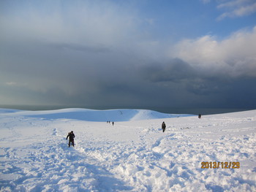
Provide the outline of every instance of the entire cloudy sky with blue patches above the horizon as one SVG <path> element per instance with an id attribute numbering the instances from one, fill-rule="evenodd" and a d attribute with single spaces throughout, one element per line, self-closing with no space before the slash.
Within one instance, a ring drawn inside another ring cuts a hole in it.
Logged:
<path id="1" fill-rule="evenodd" d="M 0 104 L 256 108 L 255 0 L 0 1 Z"/>

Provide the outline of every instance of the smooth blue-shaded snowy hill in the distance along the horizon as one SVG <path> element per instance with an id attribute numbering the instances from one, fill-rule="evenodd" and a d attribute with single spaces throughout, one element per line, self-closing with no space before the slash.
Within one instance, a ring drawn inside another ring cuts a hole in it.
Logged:
<path id="1" fill-rule="evenodd" d="M 64 109 L 45 111 L 22 111 L 0 109 L 0 113 L 11 113 L 11 115 L 23 115 L 34 118 L 45 119 L 75 119 L 97 122 L 146 120 L 158 118 L 177 118 L 191 115 L 176 115 L 156 112 L 152 110 L 87 110 L 87 109 Z"/>

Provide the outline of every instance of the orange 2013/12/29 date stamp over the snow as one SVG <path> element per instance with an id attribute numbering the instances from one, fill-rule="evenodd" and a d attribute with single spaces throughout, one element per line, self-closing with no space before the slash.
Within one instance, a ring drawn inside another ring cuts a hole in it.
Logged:
<path id="1" fill-rule="evenodd" d="M 206 162 L 201 163 L 201 169 L 239 169 L 240 162 Z"/>

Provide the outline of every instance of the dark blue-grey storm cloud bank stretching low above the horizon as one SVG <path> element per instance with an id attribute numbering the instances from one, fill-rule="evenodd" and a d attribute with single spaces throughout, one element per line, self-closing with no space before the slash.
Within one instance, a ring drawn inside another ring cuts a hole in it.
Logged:
<path id="1" fill-rule="evenodd" d="M 56 45 L 13 45 L 20 54 L 1 58 L 6 61 L 1 73 L 8 72 L 0 77 L 5 82 L 1 95 L 10 101 L 78 106 L 254 106 L 254 77 L 203 70 L 180 58 L 154 63 L 143 58 L 140 64 L 138 55 L 130 58 L 118 50 Z"/>

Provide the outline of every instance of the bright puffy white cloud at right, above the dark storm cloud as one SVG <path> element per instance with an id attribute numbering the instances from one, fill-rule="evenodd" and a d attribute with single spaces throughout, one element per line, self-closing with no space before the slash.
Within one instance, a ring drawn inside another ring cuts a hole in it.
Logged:
<path id="1" fill-rule="evenodd" d="M 171 57 L 210 74 L 256 77 L 256 27 L 238 31 L 222 41 L 211 36 L 185 39 L 170 52 Z"/>

